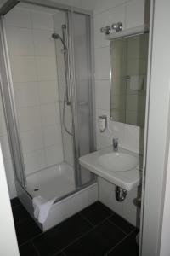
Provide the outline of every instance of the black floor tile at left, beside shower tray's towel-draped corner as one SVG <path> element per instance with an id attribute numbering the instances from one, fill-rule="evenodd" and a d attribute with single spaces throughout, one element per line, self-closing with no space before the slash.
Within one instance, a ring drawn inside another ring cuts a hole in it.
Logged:
<path id="1" fill-rule="evenodd" d="M 34 236 L 41 234 L 42 231 L 38 228 L 33 219 L 27 218 L 25 221 L 15 225 L 16 236 L 19 244 L 22 244 Z"/>

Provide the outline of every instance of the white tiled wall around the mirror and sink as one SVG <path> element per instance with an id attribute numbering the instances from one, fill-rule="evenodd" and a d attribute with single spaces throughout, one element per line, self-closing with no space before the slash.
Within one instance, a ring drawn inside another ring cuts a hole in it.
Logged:
<path id="1" fill-rule="evenodd" d="M 122 21 L 123 29 L 143 25 L 144 0 L 106 1 L 106 3 L 103 8 L 100 6 L 100 9 L 94 12 L 97 148 L 111 145 L 112 138 L 118 137 L 120 146 L 138 153 L 140 142 L 143 140 L 139 126 L 109 121 L 111 132 L 99 132 L 98 116 L 101 114 L 111 116 L 111 43 L 105 40 L 104 34 L 99 29 L 118 21 Z M 115 186 L 99 177 L 99 200 L 133 224 L 139 221 L 138 209 L 133 205 L 133 199 L 137 194 L 137 189 L 133 189 L 128 192 L 127 199 L 119 203 L 115 199 Z"/>

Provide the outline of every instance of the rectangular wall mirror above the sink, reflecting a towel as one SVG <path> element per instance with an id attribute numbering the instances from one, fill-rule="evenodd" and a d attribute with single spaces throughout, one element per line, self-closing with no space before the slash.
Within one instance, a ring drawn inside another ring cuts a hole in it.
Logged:
<path id="1" fill-rule="evenodd" d="M 144 127 L 148 33 L 111 41 L 111 119 Z"/>

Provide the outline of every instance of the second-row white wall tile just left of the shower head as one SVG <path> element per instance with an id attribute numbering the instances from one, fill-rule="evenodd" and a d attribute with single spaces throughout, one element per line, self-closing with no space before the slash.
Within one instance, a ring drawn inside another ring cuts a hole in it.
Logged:
<path id="1" fill-rule="evenodd" d="M 54 56 L 55 41 L 52 38 L 53 31 L 33 30 L 35 55 Z"/>

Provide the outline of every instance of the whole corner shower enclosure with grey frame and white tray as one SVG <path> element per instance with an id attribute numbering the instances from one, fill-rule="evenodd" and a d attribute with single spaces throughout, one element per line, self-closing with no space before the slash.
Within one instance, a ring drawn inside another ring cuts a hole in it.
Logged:
<path id="1" fill-rule="evenodd" d="M 32 216 L 33 198 L 54 199 L 39 224 L 48 230 L 69 217 L 59 207 L 65 200 L 75 201 L 71 215 L 97 199 L 95 177 L 78 161 L 95 144 L 92 15 L 38 0 L 8 1 L 0 15 L 1 92 L 16 189 Z"/>

